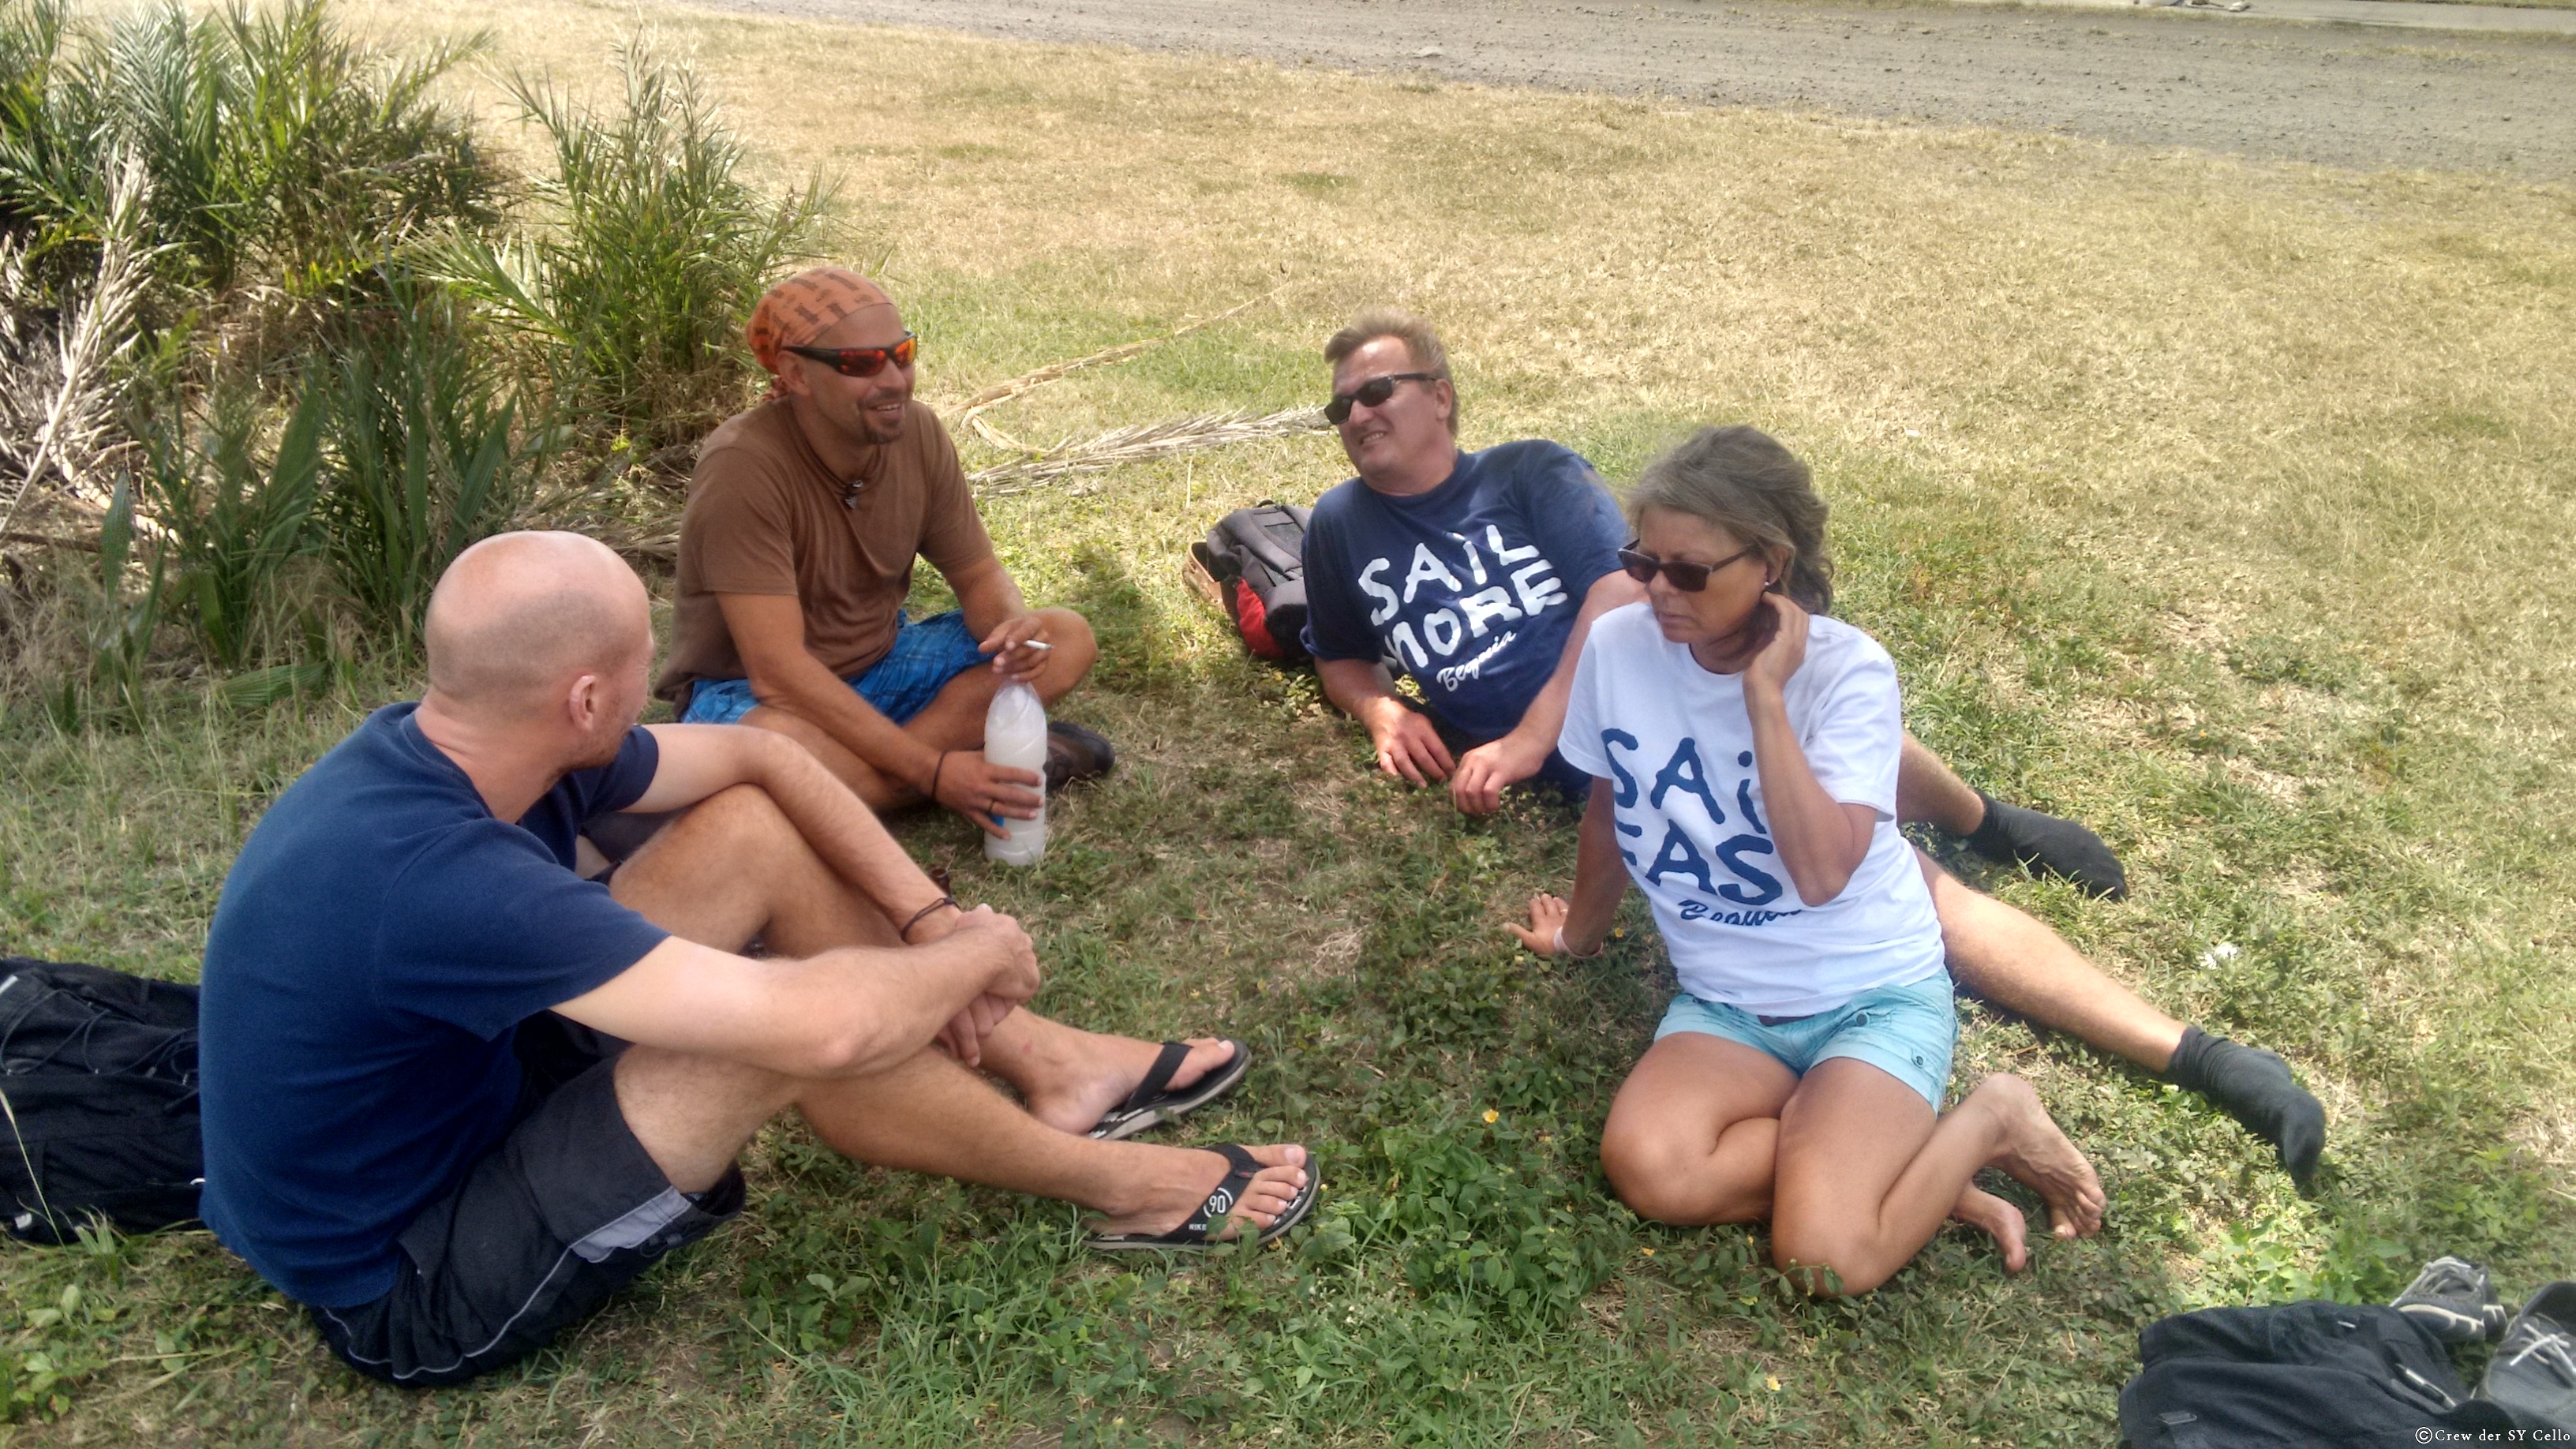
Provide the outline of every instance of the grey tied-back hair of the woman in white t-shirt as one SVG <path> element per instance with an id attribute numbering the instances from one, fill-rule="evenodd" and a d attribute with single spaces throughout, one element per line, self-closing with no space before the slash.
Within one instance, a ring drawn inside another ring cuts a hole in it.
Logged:
<path id="1" fill-rule="evenodd" d="M 1798 454 L 1762 428 L 1700 428 L 1695 438 L 1646 464 L 1628 490 L 1628 529 L 1649 508 L 1716 523 L 1788 554 L 1780 590 L 1808 614 L 1834 611 L 1834 557 L 1824 549 L 1824 500 Z"/>

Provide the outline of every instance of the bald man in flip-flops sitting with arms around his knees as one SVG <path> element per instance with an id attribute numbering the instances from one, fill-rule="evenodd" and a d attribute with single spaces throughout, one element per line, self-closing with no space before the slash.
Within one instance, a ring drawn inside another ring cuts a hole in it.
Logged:
<path id="1" fill-rule="evenodd" d="M 1314 1201 L 1298 1145 L 1100 1140 L 1149 1078 L 1231 1085 L 1239 1044 L 1025 1011 L 1028 933 L 948 900 L 793 740 L 639 730 L 649 601 L 605 547 L 466 549 L 425 642 L 422 701 L 268 807 L 206 938 L 206 1225 L 358 1372 L 536 1351 L 737 1214 L 734 1155 L 788 1109 L 855 1160 L 1092 1207 L 1100 1248 Z M 574 874 L 592 822 L 683 807 Z"/>

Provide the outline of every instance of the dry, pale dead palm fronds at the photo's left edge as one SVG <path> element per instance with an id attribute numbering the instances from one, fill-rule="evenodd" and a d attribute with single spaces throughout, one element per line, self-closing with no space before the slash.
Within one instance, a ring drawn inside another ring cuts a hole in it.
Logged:
<path id="1" fill-rule="evenodd" d="M 95 474 L 121 446 L 113 364 L 134 345 L 149 263 L 147 191 L 142 157 L 129 152 L 108 188 L 98 278 L 64 304 L 52 330 L 36 322 L 41 304 L 26 248 L 15 237 L 0 242 L 0 534 L 46 487 L 106 495 Z"/>

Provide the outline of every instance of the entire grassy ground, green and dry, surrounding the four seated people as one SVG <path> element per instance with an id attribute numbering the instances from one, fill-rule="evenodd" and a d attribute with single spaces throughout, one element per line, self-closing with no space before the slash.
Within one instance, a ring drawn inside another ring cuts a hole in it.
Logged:
<path id="1" fill-rule="evenodd" d="M 443 23 L 595 57 L 621 15 Z M 1461 820 L 1373 779 L 1311 676 L 1242 657 L 1180 585 L 1221 511 L 1342 477 L 1329 436 L 1298 436 L 992 500 L 1030 598 L 1100 629 L 1066 714 L 1123 763 L 1066 797 L 1036 871 L 987 866 L 963 822 L 896 825 L 1030 923 L 1043 1011 L 1252 1042 L 1247 1085 L 1162 1137 L 1306 1140 L 1309 1227 L 1103 1261 L 1064 1207 L 778 1127 L 744 1222 L 523 1369 L 428 1395 L 337 1369 L 206 1235 L 0 1248 L 21 1439 L 2107 1444 L 2154 1315 L 2385 1299 L 2434 1253 L 2512 1294 L 2568 1276 L 2576 418 L 2553 379 L 2576 366 L 2576 199 L 659 18 L 716 95 L 850 77 L 853 111 L 765 106 L 747 134 L 783 178 L 876 147 L 837 250 L 891 276 L 933 397 L 1293 268 L 1262 309 L 1012 402 L 1012 436 L 1314 402 L 1321 338 L 1394 297 L 1448 322 L 1471 446 L 1558 436 L 1620 477 L 1708 420 L 1790 438 L 1914 730 L 2097 825 L 2133 897 L 1960 869 L 2179 1016 L 2287 1052 L 2331 1114 L 2324 1186 L 2295 1196 L 2190 1093 L 1963 1003 L 1960 1080 L 2038 1083 L 2102 1165 L 2099 1240 L 2007 1279 L 1947 1232 L 1819 1305 L 1762 1269 L 1759 1232 L 1638 1225 L 1595 1145 L 1672 990 L 1641 915 L 1602 962 L 1515 954 L 1502 918 L 1566 882 L 1569 817 Z M 943 152 L 989 137 L 1007 152 Z M 1314 204 L 1283 188 L 1301 170 L 1352 183 Z M 0 944 L 191 977 L 258 810 L 417 688 L 368 668 L 258 709 L 162 670 L 131 719 L 70 730 L 10 694 Z"/>

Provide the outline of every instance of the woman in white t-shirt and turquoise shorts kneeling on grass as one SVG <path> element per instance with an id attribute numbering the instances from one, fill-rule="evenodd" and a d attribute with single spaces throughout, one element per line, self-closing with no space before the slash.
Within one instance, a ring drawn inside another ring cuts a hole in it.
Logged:
<path id="1" fill-rule="evenodd" d="M 1971 1183 L 1989 1165 L 2038 1189 L 2061 1238 L 2097 1232 L 2102 1183 L 2025 1080 L 1940 1116 L 1958 1016 L 1896 833 L 1896 668 L 1824 616 L 1806 464 L 1710 428 L 1643 472 L 1628 518 L 1646 603 L 1592 624 L 1558 740 L 1595 776 L 1574 895 L 1512 926 L 1592 957 L 1636 879 L 1672 951 L 1682 995 L 1602 1129 L 1610 1186 L 1662 1222 L 1767 1217 L 1814 1292 L 1878 1287 L 1950 1214 L 2020 1271 L 2022 1214 Z"/>

